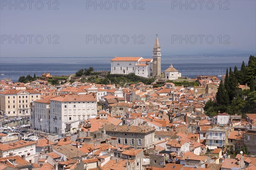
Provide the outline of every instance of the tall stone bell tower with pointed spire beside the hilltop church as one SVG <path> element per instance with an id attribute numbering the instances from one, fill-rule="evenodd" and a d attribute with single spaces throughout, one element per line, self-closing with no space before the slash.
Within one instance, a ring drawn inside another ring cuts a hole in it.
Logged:
<path id="1" fill-rule="evenodd" d="M 161 49 L 158 37 L 156 37 L 153 48 L 153 77 L 161 76 Z"/>

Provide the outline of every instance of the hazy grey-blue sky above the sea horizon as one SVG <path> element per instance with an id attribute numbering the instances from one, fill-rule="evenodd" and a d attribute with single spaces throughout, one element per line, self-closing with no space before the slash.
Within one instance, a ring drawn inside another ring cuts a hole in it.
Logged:
<path id="1" fill-rule="evenodd" d="M 0 0 L 0 57 L 255 54 L 256 0 Z"/>

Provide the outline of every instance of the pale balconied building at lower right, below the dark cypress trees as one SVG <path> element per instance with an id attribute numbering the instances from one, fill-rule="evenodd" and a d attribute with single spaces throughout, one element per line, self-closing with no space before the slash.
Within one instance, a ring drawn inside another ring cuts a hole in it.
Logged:
<path id="1" fill-rule="evenodd" d="M 206 144 L 208 144 L 209 149 L 214 149 L 216 147 L 221 147 L 222 150 L 228 144 L 228 137 L 234 127 L 230 126 L 218 126 L 211 127 L 206 131 Z"/>

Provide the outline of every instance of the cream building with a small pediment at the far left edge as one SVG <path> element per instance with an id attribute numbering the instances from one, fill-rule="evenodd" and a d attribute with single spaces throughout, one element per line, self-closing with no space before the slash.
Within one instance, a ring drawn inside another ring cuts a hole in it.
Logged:
<path id="1" fill-rule="evenodd" d="M 0 92 L 0 111 L 9 117 L 30 116 L 30 103 L 41 99 L 41 93 L 31 89 L 10 89 Z"/>

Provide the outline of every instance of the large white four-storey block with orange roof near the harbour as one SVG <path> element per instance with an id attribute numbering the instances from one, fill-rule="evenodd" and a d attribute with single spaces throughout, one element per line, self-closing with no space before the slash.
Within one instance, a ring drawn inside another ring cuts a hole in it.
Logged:
<path id="1" fill-rule="evenodd" d="M 50 132 L 65 133 L 66 123 L 97 116 L 95 94 L 62 95 L 50 99 Z"/>

